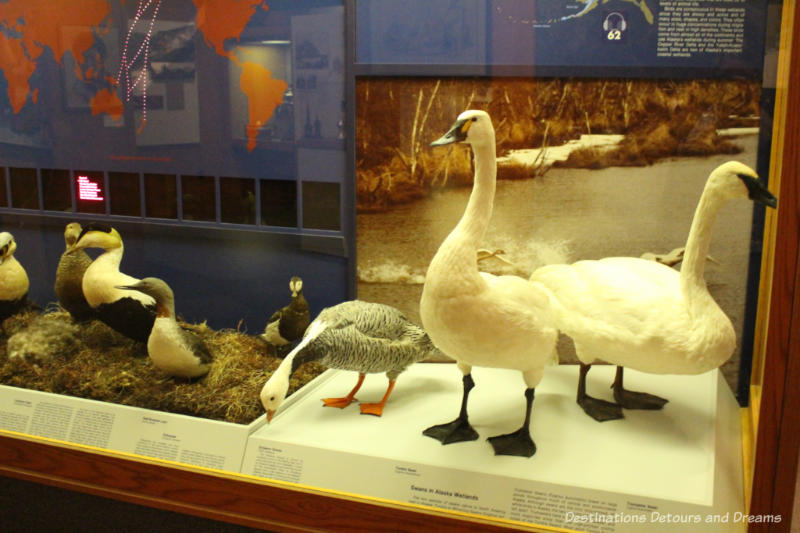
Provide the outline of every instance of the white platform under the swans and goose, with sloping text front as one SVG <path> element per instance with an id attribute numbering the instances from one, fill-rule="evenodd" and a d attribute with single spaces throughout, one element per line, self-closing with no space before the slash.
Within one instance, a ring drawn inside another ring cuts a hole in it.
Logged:
<path id="1" fill-rule="evenodd" d="M 550 367 L 536 389 L 532 458 L 495 456 L 486 438 L 524 416 L 519 372 L 474 368 L 472 442 L 422 435 L 458 413 L 461 373 L 418 364 L 401 374 L 382 417 L 322 407 L 355 373 L 303 389 L 248 441 L 242 472 L 314 487 L 591 532 L 744 531 L 739 407 L 718 371 L 655 376 L 626 370 L 630 390 L 669 399 L 661 411 L 625 411 L 599 423 L 575 403 L 577 366 Z M 611 399 L 614 367 L 589 373 L 589 393 Z M 369 375 L 357 395 L 378 401 Z"/>

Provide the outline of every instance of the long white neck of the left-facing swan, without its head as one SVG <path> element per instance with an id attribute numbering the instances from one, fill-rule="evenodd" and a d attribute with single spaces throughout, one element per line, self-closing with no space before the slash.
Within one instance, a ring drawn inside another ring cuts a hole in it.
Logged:
<path id="1" fill-rule="evenodd" d="M 437 253 L 438 262 L 461 264 L 475 263 L 476 251 L 492 217 L 496 188 L 497 161 L 494 142 L 472 147 L 475 159 L 475 177 L 467 208 L 456 227 L 447 236 Z M 434 266 L 433 264 L 431 266 Z"/>

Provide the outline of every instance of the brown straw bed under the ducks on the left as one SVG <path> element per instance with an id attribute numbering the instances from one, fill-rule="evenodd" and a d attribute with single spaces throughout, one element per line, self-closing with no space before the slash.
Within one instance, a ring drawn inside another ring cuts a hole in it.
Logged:
<path id="1" fill-rule="evenodd" d="M 0 328 L 0 383 L 170 413 L 249 424 L 264 410 L 259 392 L 281 359 L 259 337 L 236 330 L 214 331 L 205 324 L 181 325 L 195 332 L 214 356 L 207 375 L 196 380 L 155 368 L 144 343 L 98 320 L 75 323 L 64 311 L 33 310 L 9 317 Z M 9 357 L 15 334 L 36 330 L 35 349 Z M 292 376 L 289 392 L 324 371 L 307 363 Z"/>

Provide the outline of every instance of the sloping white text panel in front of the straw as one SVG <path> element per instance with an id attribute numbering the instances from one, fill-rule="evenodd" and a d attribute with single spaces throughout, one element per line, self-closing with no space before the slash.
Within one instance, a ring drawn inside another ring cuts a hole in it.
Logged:
<path id="1" fill-rule="evenodd" d="M 239 472 L 247 437 L 232 424 L 0 385 L 0 429 Z"/>

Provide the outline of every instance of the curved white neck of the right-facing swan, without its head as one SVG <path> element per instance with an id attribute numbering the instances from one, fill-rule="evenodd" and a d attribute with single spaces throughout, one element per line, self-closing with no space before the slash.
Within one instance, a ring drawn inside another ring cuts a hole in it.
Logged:
<path id="1" fill-rule="evenodd" d="M 689 237 L 686 240 L 686 251 L 680 274 L 681 293 L 692 314 L 701 312 L 702 307 L 713 303 L 713 299 L 708 293 L 704 272 L 711 244 L 711 228 L 724 203 L 725 199 L 714 194 L 713 190 L 706 188 L 700 197 L 700 203 L 697 205 L 692 227 L 689 230 Z"/>

